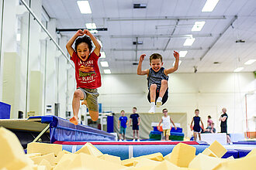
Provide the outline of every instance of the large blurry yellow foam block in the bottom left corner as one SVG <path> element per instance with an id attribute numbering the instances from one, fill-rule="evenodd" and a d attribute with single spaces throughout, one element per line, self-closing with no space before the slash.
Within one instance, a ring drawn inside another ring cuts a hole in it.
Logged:
<path id="1" fill-rule="evenodd" d="M 0 169 L 33 167 L 33 162 L 25 155 L 16 135 L 2 127 L 0 128 L 0 151 Z"/>

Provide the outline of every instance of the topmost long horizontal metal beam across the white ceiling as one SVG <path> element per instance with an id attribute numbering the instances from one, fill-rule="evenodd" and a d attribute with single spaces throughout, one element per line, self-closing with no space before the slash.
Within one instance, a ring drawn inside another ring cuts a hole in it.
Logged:
<path id="1" fill-rule="evenodd" d="M 164 16 L 164 17 L 158 17 L 158 18 L 140 18 L 140 17 L 124 17 L 124 18 L 106 18 L 106 21 L 108 22 L 119 22 L 119 21 L 154 21 L 154 20 L 199 20 L 199 19 L 227 19 L 225 15 L 220 16 L 177 16 L 177 17 L 171 17 L 171 16 Z"/>

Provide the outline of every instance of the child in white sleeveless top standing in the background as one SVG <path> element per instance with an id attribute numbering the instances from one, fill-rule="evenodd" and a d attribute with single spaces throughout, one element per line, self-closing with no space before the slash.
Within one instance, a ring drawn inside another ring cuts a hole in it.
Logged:
<path id="1" fill-rule="evenodd" d="M 171 120 L 171 117 L 168 116 L 168 110 L 163 109 L 164 116 L 161 117 L 161 121 L 158 124 L 158 127 L 160 127 L 160 124 L 163 123 L 163 134 L 165 137 L 165 141 L 169 141 L 169 136 L 171 135 L 171 123 L 175 126 L 175 123 Z M 175 130 L 177 130 L 175 126 Z"/>

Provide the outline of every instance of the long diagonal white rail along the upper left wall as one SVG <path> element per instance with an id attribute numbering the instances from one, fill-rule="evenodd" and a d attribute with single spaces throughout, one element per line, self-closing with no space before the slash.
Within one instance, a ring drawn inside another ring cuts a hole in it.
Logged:
<path id="1" fill-rule="evenodd" d="M 50 35 L 50 32 L 48 32 L 48 30 L 43 26 L 42 22 L 40 22 L 40 20 L 36 17 L 36 15 L 34 14 L 34 12 L 32 11 L 31 8 L 29 8 L 29 5 L 26 4 L 26 2 L 24 2 L 24 0 L 20 0 L 20 2 L 22 2 L 22 4 L 26 7 L 26 9 L 30 12 L 31 15 L 33 15 L 34 19 L 36 20 L 36 22 L 41 26 L 41 28 L 47 33 L 47 35 L 50 37 L 50 40 L 52 40 L 54 42 L 54 44 L 57 46 L 57 48 L 61 51 L 61 53 L 63 54 L 63 56 L 67 59 L 68 63 L 71 64 L 71 66 L 74 65 L 73 63 L 71 63 L 71 60 L 67 57 L 67 55 L 64 53 L 64 51 L 61 49 L 61 46 L 59 46 L 57 44 L 57 42 L 54 40 L 53 36 Z"/>

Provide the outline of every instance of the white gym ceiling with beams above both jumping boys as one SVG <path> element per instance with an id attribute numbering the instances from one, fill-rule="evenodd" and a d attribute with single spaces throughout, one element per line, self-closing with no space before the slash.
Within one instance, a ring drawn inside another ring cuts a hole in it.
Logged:
<path id="1" fill-rule="evenodd" d="M 175 60 L 173 50 L 189 51 L 180 58 L 178 73 L 193 73 L 194 66 L 198 73 L 233 72 L 240 66 L 244 67 L 242 72 L 256 71 L 256 62 L 244 65 L 248 59 L 256 59 L 256 1 L 220 0 L 213 12 L 201 12 L 205 2 L 89 0 L 92 14 L 81 14 L 75 0 L 43 0 L 43 8 L 50 18 L 57 19 L 57 29 L 85 28 L 88 22 L 107 28 L 94 35 L 102 41 L 106 53 L 106 59 L 100 61 L 108 61 L 112 73 L 137 73 L 133 63 L 143 53 L 146 57 L 160 53 L 164 67 L 171 67 Z M 133 8 L 134 3 L 147 4 L 147 8 Z M 195 21 L 206 21 L 199 32 L 191 31 Z M 73 34 L 61 32 L 68 39 Z M 191 34 L 195 42 L 183 46 L 185 36 Z M 136 52 L 133 42 L 137 39 L 143 45 L 138 45 Z M 236 43 L 237 39 L 245 42 Z M 143 63 L 143 69 L 147 68 L 148 58 Z"/>

